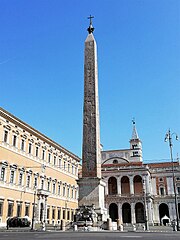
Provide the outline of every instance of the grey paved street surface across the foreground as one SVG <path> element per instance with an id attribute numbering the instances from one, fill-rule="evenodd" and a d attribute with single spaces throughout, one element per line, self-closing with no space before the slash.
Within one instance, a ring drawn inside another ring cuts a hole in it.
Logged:
<path id="1" fill-rule="evenodd" d="M 111 239 L 111 240 L 175 240 L 180 239 L 180 232 L 0 232 L 1 240 L 89 240 L 89 239 Z"/>

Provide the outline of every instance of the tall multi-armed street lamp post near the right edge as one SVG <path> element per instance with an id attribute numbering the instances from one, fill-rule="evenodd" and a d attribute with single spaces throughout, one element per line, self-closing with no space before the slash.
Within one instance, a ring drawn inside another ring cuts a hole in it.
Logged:
<path id="1" fill-rule="evenodd" d="M 169 141 L 169 148 L 170 148 L 170 156 L 171 156 L 171 163 L 172 163 L 172 174 L 173 174 L 173 189 L 174 189 L 174 204 L 176 210 L 176 224 L 177 224 L 177 231 L 180 231 L 179 228 L 179 212 L 178 212 L 178 199 L 177 199 L 177 192 L 176 192 L 176 180 L 175 180 L 175 173 L 174 173 L 174 161 L 173 161 L 173 151 L 172 151 L 172 136 L 175 135 L 175 139 L 178 140 L 178 135 L 176 133 L 171 133 L 170 129 L 166 133 L 164 141 Z"/>

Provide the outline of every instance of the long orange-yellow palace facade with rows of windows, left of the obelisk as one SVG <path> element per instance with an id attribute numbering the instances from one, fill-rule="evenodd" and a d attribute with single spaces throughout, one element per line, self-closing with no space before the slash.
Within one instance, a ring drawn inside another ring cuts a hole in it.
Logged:
<path id="1" fill-rule="evenodd" d="M 13 216 L 36 223 L 73 221 L 79 163 L 79 157 L 0 108 L 0 226 Z"/>

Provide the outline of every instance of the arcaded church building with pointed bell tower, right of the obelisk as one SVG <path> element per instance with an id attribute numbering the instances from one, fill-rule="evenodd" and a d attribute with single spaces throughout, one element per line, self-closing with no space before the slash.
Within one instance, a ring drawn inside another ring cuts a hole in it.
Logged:
<path id="1" fill-rule="evenodd" d="M 129 149 L 102 151 L 101 156 L 105 206 L 112 221 L 163 225 L 177 218 L 173 172 L 180 213 L 180 164 L 143 163 L 135 123 Z"/>

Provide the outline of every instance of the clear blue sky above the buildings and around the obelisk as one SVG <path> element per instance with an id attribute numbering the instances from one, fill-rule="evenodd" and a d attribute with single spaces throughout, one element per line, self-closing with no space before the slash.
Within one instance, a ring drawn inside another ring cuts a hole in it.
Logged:
<path id="1" fill-rule="evenodd" d="M 129 148 L 134 117 L 144 161 L 169 159 L 165 133 L 180 135 L 179 0 L 0 0 L 0 106 L 81 157 L 90 14 L 104 150 Z"/>

